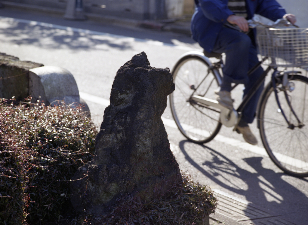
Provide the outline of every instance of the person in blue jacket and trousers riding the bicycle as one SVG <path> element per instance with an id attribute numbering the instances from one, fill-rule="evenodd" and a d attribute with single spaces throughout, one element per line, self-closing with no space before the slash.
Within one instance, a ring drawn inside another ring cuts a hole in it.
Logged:
<path id="1" fill-rule="evenodd" d="M 244 84 L 245 96 L 263 73 L 260 66 L 247 76 L 248 70 L 259 62 L 256 29 L 250 30 L 247 20 L 254 14 L 260 14 L 273 21 L 286 18 L 294 24 L 296 18 L 293 14 L 286 14 L 276 0 L 195 0 L 195 4 L 191 23 L 193 39 L 207 52 L 225 53 L 222 84 L 215 93 L 221 105 L 232 109 L 231 83 Z M 226 26 L 228 22 L 237 25 L 242 32 Z M 257 144 L 257 139 L 248 124 L 253 122 L 263 87 L 264 84 L 249 100 L 236 127 L 245 141 L 253 145 Z"/>

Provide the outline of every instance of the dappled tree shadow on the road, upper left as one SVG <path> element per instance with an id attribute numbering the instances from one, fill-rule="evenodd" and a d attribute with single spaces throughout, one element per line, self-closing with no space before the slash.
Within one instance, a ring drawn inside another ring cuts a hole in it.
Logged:
<path id="1" fill-rule="evenodd" d="M 61 28 L 61 27 L 60 27 Z M 71 50 L 108 50 L 110 47 L 118 50 L 131 49 L 131 42 L 112 36 L 95 35 L 95 32 L 66 28 L 42 23 L 23 23 L 9 20 L 9 26 L 0 30 L 6 37 L 6 42 L 15 45 L 33 45 L 45 49 Z"/>

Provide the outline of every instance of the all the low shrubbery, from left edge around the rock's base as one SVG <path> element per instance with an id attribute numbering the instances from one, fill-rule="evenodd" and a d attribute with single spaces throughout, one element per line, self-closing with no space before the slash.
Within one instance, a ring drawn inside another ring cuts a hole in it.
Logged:
<path id="1" fill-rule="evenodd" d="M 41 102 L 0 105 L 0 225 L 200 224 L 214 212 L 207 187 L 183 175 L 151 202 L 117 199 L 106 216 L 75 216 L 69 181 L 95 151 L 96 128 L 80 108 Z"/>

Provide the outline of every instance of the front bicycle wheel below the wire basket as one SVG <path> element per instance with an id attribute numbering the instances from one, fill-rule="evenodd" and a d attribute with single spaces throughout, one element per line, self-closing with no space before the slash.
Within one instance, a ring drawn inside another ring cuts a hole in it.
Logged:
<path id="1" fill-rule="evenodd" d="M 289 76 L 289 87 L 277 83 L 278 99 L 288 126 L 276 102 L 274 87 L 270 83 L 261 97 L 258 125 L 263 145 L 272 161 L 282 171 L 299 176 L 308 176 L 308 78 Z M 293 108 L 294 115 L 289 106 Z"/>

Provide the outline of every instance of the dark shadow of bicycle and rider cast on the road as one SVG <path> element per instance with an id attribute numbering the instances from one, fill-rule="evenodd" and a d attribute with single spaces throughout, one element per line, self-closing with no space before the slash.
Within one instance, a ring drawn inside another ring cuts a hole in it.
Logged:
<path id="1" fill-rule="evenodd" d="M 230 160 L 218 151 L 205 145 L 200 146 L 204 154 L 197 155 L 188 153 L 185 144 L 187 140 L 180 141 L 179 147 L 185 159 L 195 168 L 206 176 L 206 182 L 221 189 L 227 189 L 243 195 L 248 205 L 264 207 L 266 211 L 275 216 L 293 222 L 295 224 L 307 224 L 308 198 L 299 188 L 308 188 L 308 180 L 301 178 L 302 187 L 294 187 L 288 183 L 286 177 L 293 177 L 284 173 L 277 173 L 262 166 L 262 157 L 242 158 L 237 163 Z M 191 150 L 190 150 L 191 151 Z M 206 157 L 201 163 L 198 161 L 200 156 Z M 249 216 L 247 214 L 247 216 Z M 257 224 L 257 223 L 256 223 Z"/>

